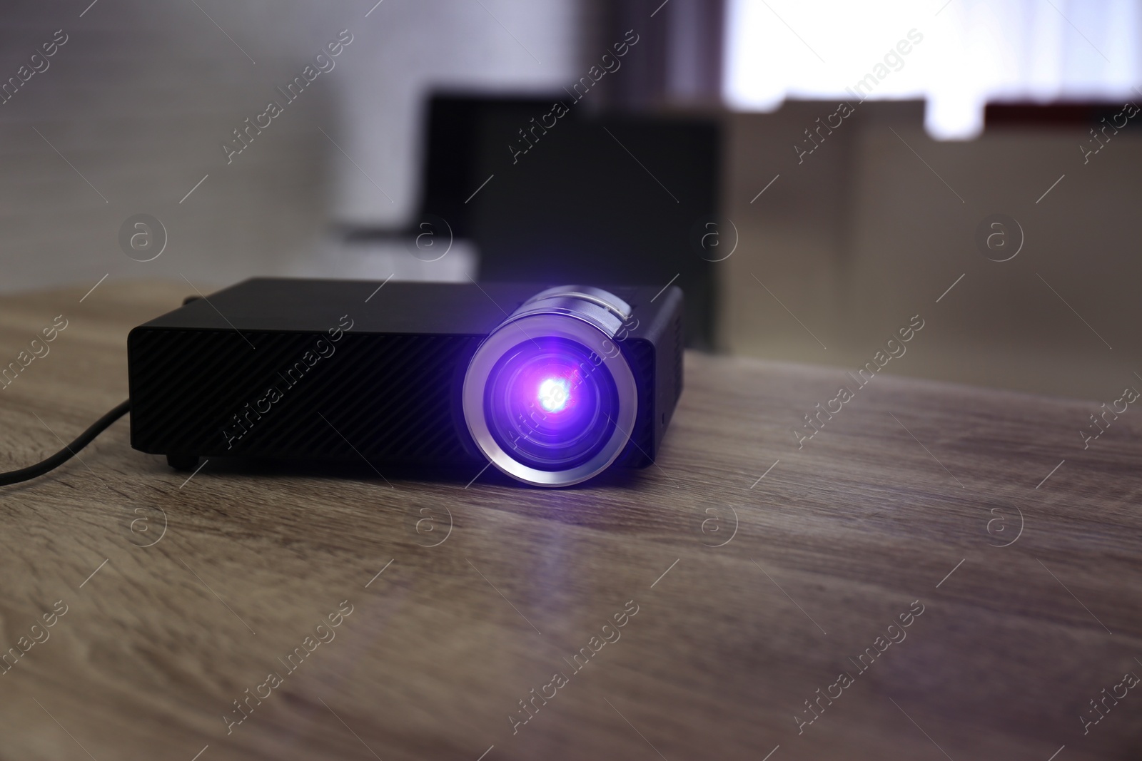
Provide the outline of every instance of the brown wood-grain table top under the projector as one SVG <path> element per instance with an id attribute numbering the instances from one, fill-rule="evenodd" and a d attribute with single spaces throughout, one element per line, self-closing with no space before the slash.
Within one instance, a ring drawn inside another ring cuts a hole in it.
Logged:
<path id="1" fill-rule="evenodd" d="M 0 299 L 3 363 L 67 321 L 0 467 L 126 398 L 187 290 Z M 843 382 L 690 355 L 658 464 L 566 491 L 187 479 L 119 422 L 0 489 L 0 758 L 1139 758 L 1142 411 L 1084 450 L 1095 403 L 882 375 L 798 450 Z"/>

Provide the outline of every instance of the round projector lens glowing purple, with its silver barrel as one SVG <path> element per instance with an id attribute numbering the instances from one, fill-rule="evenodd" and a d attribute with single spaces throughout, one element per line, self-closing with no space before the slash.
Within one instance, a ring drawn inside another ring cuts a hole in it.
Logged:
<path id="1" fill-rule="evenodd" d="M 634 429 L 637 390 L 613 339 L 629 315 L 605 291 L 537 294 L 476 350 L 464 413 L 500 470 L 537 486 L 568 486 L 608 468 Z"/>

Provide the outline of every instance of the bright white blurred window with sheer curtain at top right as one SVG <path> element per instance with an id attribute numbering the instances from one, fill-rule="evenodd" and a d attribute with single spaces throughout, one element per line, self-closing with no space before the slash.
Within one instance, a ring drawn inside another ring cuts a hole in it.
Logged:
<path id="1" fill-rule="evenodd" d="M 988 102 L 1142 97 L 1140 6 L 727 0 L 723 95 L 740 111 L 786 98 L 926 99 L 930 135 L 967 139 Z"/>

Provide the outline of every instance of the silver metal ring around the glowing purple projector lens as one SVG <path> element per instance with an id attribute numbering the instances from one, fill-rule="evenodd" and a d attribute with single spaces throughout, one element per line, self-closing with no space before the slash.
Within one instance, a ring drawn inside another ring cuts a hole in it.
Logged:
<path id="1" fill-rule="evenodd" d="M 614 333 L 601 327 L 596 316 L 590 314 L 600 307 L 588 301 L 579 303 L 581 308 L 571 303 L 549 313 L 536 313 L 534 305 L 525 305 L 521 308 L 522 314 L 512 315 L 484 339 L 464 378 L 464 419 L 476 446 L 501 471 L 533 486 L 570 486 L 598 475 L 619 456 L 634 430 L 638 410 L 634 373 L 612 340 Z M 618 398 L 616 408 L 608 413 L 612 427 L 605 442 L 586 462 L 565 470 L 544 470 L 520 462 L 493 436 L 484 404 L 488 384 L 496 380 L 492 373 L 500 358 L 522 343 L 547 338 L 577 343 L 597 358 L 597 366 L 610 373 Z"/>

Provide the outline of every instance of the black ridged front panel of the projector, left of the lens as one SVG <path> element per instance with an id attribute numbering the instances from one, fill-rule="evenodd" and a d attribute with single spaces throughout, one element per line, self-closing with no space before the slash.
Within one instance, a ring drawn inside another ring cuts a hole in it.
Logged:
<path id="1" fill-rule="evenodd" d="M 477 338 L 345 333 L 327 342 L 335 348 L 328 357 L 319 357 L 316 340 L 286 332 L 132 333 L 132 419 L 145 421 L 132 426 L 132 446 L 204 456 L 480 462 L 465 446 L 452 399 Z M 281 395 L 272 403 L 271 387 Z"/>

